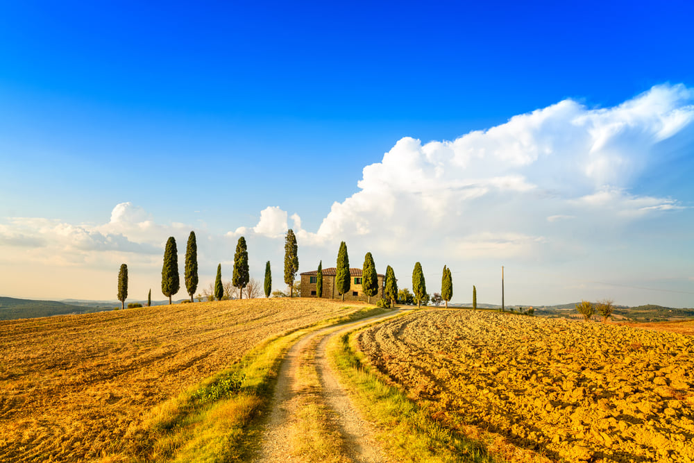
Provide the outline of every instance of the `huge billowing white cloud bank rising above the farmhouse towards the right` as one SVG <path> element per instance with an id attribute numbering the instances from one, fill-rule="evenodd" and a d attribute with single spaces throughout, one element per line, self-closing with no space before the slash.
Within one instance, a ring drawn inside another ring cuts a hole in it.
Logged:
<path id="1" fill-rule="evenodd" d="M 295 232 L 305 244 L 361 239 L 386 253 L 552 253 L 569 238 L 552 226 L 609 220 L 614 228 L 684 208 L 632 188 L 660 162 L 663 140 L 692 130 L 693 100 L 684 85 L 658 85 L 612 108 L 567 99 L 453 141 L 403 137 L 364 167 L 359 191 L 333 203 L 316 231 L 295 214 Z M 287 212 L 267 208 L 236 233 L 281 237 L 286 224 Z"/>

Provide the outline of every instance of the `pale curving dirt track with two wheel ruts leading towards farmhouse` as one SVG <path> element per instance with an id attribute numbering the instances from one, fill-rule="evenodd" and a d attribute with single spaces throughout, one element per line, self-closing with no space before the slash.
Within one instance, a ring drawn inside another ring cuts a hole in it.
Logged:
<path id="1" fill-rule="evenodd" d="M 332 426 L 341 439 L 344 460 L 364 463 L 387 462 L 375 440 L 375 430 L 353 406 L 346 390 L 332 371 L 325 355 L 328 341 L 348 330 L 372 323 L 376 319 L 393 317 L 399 311 L 349 323 L 338 328 L 329 327 L 301 338 L 292 346 L 278 373 L 278 380 L 271 402 L 271 412 L 264 424 L 261 447 L 253 462 L 305 462 L 316 461 L 297 455 L 290 428 L 296 424 L 301 401 L 301 368 L 308 363 L 317 373 L 320 401 L 328 410 Z M 339 460 L 336 460 L 339 461 Z"/>

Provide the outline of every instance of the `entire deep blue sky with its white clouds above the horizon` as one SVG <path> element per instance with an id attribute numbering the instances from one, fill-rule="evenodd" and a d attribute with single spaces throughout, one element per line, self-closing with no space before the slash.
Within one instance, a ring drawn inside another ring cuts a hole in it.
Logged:
<path id="1" fill-rule="evenodd" d="M 691 2 L 143 3 L 0 5 L 0 294 L 157 293 L 189 230 L 279 287 L 298 214 L 300 271 L 694 306 Z"/>

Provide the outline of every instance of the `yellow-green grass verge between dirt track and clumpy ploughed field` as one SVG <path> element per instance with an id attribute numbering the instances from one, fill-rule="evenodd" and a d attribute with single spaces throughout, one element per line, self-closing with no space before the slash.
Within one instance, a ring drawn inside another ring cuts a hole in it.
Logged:
<path id="1" fill-rule="evenodd" d="M 399 462 L 496 462 L 484 445 L 430 417 L 423 405 L 388 385 L 364 363 L 351 345 L 355 331 L 335 337 L 328 357 L 337 367 L 355 403 L 380 430 L 384 451 Z"/>

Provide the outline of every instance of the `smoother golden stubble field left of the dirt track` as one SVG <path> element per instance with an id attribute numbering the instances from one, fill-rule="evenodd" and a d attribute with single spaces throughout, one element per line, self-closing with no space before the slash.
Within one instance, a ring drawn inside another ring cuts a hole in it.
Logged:
<path id="1" fill-rule="evenodd" d="M 0 321 L 0 461 L 98 458 L 263 339 L 354 310 L 271 298 Z"/>

